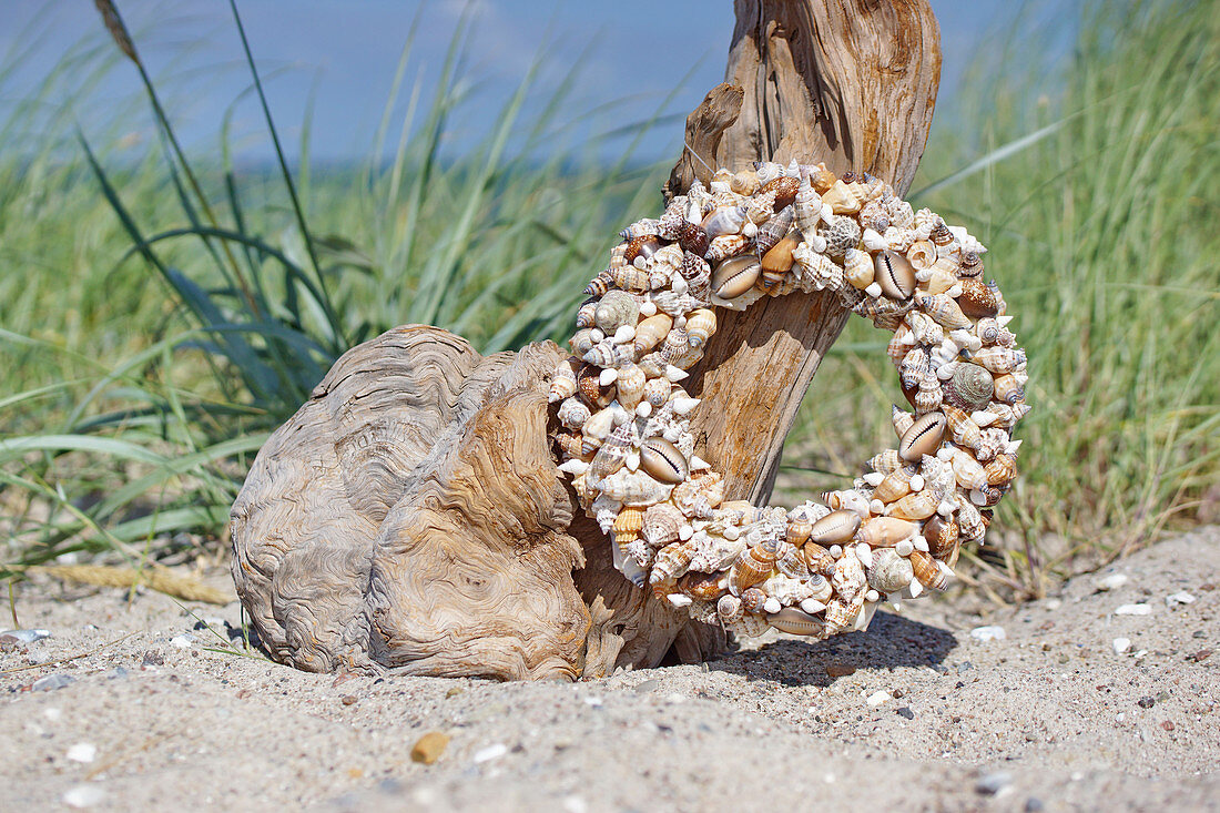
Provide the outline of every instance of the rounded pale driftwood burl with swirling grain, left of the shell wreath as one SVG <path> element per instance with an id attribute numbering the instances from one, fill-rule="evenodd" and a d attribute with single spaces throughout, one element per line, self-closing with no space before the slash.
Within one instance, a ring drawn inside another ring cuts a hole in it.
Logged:
<path id="1" fill-rule="evenodd" d="M 553 343 L 482 358 L 432 327 L 345 353 L 233 507 L 233 577 L 268 652 L 337 669 L 604 674 L 547 436 Z M 594 634 L 594 658 L 587 638 Z"/>

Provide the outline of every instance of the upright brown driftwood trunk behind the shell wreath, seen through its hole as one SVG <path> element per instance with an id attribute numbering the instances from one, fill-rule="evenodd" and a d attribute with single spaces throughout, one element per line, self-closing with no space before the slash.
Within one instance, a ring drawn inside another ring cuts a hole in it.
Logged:
<path id="1" fill-rule="evenodd" d="M 706 183 L 704 165 L 793 157 L 867 171 L 905 193 L 939 82 L 926 0 L 737 0 L 734 11 L 726 84 L 687 118 L 686 143 L 702 160 L 684 149 L 666 194 Z M 688 389 L 704 399 L 695 439 L 732 497 L 770 497 L 783 439 L 847 317 L 826 292 L 725 314 Z"/>

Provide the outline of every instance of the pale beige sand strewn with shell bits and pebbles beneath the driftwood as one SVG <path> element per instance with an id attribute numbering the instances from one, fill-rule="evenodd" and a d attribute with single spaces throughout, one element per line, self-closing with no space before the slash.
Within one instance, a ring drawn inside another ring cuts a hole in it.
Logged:
<path id="1" fill-rule="evenodd" d="M 988 618 L 570 685 L 310 675 L 215 651 L 235 603 L 26 584 L 0 809 L 1220 809 L 1218 586 L 1213 527 Z"/>

